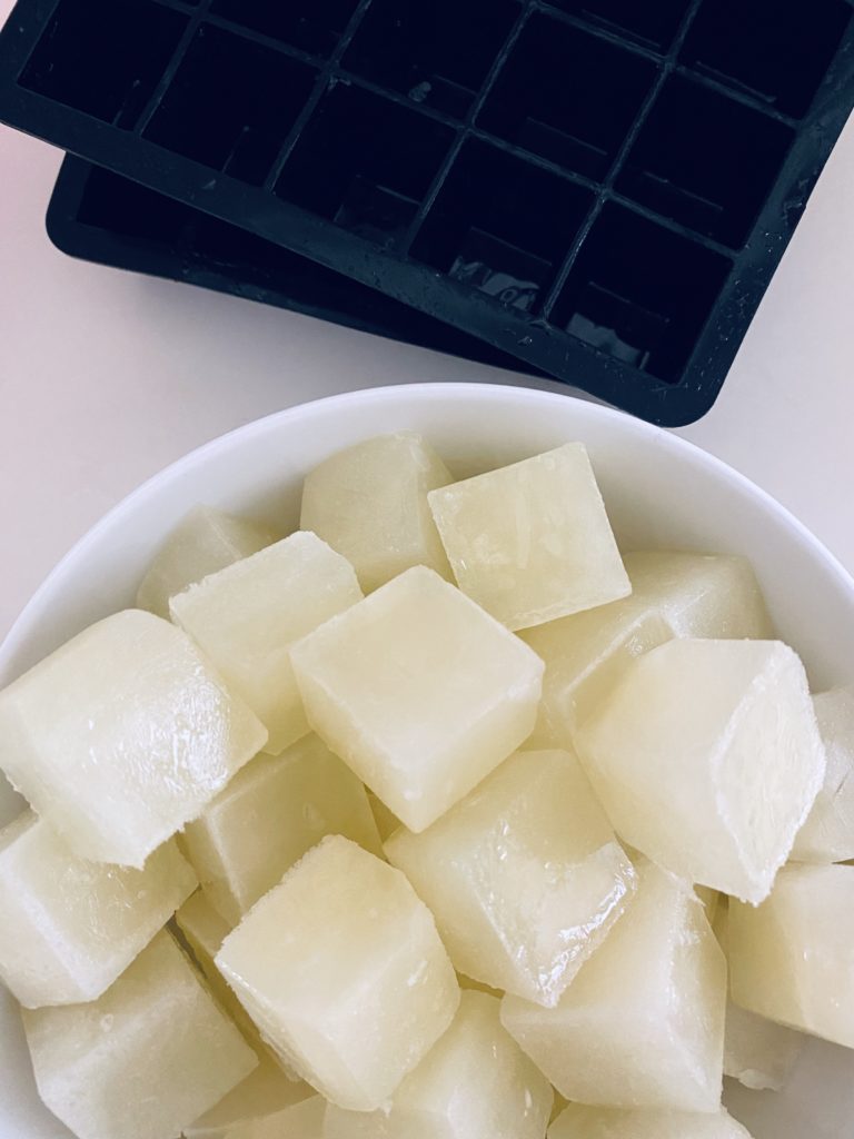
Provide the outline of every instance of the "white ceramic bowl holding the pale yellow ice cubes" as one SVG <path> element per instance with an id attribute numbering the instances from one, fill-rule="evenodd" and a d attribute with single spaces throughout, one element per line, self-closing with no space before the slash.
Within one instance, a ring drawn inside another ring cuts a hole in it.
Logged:
<path id="1" fill-rule="evenodd" d="M 358 440 L 412 428 L 459 476 L 569 440 L 592 457 L 624 548 L 746 554 L 780 634 L 815 688 L 851 681 L 854 582 L 786 510 L 746 478 L 675 435 L 565 395 L 436 384 L 335 396 L 216 440 L 146 483 L 67 555 L 0 648 L 0 687 L 92 621 L 133 604 L 146 564 L 195 503 L 295 526 L 302 477 Z M 761 431 L 757 425 L 757 431 Z M 0 786 L 0 822 L 19 801 Z M 811 1042 L 781 1096 L 728 1090 L 756 1139 L 852 1139 L 854 1052 Z M 17 1015 L 0 998 L 0 1137 L 68 1136 L 40 1107 Z"/>

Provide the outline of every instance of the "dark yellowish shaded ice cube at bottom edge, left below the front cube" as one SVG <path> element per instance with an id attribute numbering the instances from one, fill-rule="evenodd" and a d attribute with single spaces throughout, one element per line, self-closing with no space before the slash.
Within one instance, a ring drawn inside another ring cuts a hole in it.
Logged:
<path id="1" fill-rule="evenodd" d="M 233 1139 L 261 1131 L 273 1117 L 314 1097 L 302 1080 L 289 1080 L 266 1054 L 258 1066 L 210 1112 L 183 1129 L 183 1139 Z"/>

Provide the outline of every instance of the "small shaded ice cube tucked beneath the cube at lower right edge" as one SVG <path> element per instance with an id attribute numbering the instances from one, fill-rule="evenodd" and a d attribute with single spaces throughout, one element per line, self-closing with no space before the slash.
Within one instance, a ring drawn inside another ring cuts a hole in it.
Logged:
<path id="1" fill-rule="evenodd" d="M 806 1043 L 806 1036 L 732 1001 L 726 1006 L 723 1074 L 753 1091 L 780 1091 Z"/>

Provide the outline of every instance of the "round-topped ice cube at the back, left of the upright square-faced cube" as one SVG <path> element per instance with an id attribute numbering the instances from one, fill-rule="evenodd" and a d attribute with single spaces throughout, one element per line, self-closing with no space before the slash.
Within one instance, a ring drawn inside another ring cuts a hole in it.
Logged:
<path id="1" fill-rule="evenodd" d="M 450 482 L 447 467 L 420 435 L 380 435 L 311 472 L 299 524 L 344 555 L 366 592 L 417 565 L 450 577 L 427 506 L 427 492 Z"/>

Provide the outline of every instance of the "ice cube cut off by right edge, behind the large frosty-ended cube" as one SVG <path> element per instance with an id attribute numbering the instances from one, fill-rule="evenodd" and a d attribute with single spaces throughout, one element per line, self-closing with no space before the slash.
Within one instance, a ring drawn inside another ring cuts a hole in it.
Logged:
<path id="1" fill-rule="evenodd" d="M 846 862 L 854 859 L 854 687 L 822 693 L 813 705 L 828 765 L 791 857 L 797 862 Z"/>

